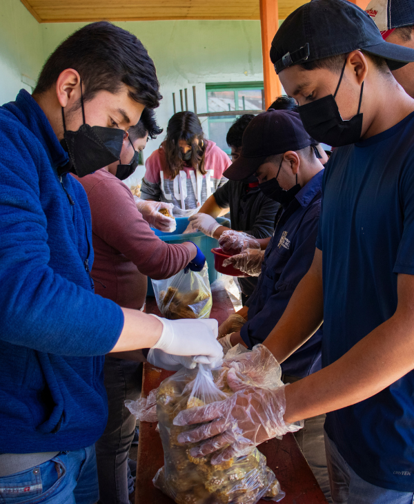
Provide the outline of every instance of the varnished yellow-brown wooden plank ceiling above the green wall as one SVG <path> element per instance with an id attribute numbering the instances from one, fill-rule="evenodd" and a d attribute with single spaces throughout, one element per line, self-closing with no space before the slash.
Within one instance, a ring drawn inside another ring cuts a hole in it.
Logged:
<path id="1" fill-rule="evenodd" d="M 308 0 L 279 0 L 279 19 Z M 39 23 L 260 19 L 259 0 L 21 0 Z"/>

